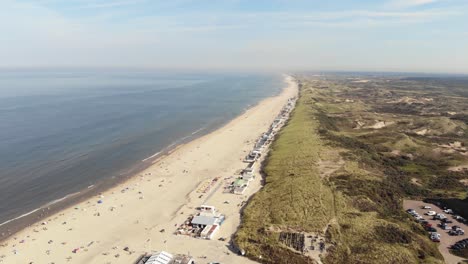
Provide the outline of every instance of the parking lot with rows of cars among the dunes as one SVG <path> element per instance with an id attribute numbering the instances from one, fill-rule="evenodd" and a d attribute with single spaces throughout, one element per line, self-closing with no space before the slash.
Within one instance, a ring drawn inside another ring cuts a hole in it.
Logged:
<path id="1" fill-rule="evenodd" d="M 422 209 L 423 206 L 430 206 L 431 209 Z M 437 233 L 440 234 L 439 251 L 444 256 L 445 262 L 447 264 L 457 264 L 464 260 L 463 258 L 452 255 L 449 252 L 449 247 L 462 239 L 468 238 L 468 226 L 466 224 L 460 223 L 457 220 L 453 219 L 454 215 L 443 212 L 442 208 L 439 208 L 433 204 L 424 203 L 422 201 L 405 200 L 403 202 L 403 207 L 405 210 L 414 209 L 420 216 L 424 218 L 424 220 L 426 220 L 432 225 L 432 227 L 436 229 Z M 453 221 L 453 223 L 448 224 L 449 227 L 452 227 L 454 225 L 460 226 L 463 230 L 466 231 L 465 234 L 458 236 L 449 235 L 449 230 L 442 230 L 442 228 L 439 226 L 439 223 L 441 223 L 440 220 L 433 220 L 433 216 L 425 215 L 425 213 L 427 213 L 428 211 L 435 211 L 437 214 L 444 214 L 449 220 Z"/>

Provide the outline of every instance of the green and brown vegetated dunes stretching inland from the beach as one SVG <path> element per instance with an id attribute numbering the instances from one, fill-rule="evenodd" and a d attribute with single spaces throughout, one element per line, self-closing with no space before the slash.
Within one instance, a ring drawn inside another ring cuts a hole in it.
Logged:
<path id="1" fill-rule="evenodd" d="M 420 89 L 421 80 L 298 79 L 298 104 L 236 244 L 262 263 L 443 263 L 402 201 L 466 205 L 468 173 L 450 170 L 468 164 L 466 113 L 451 109 L 466 105 L 465 95 L 455 87 L 443 97 L 440 88 Z M 323 237 L 325 250 L 300 252 L 284 233 Z"/>

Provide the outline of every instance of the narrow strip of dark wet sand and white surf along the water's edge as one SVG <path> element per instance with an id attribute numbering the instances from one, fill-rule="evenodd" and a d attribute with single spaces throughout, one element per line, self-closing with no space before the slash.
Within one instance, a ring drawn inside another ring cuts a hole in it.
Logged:
<path id="1" fill-rule="evenodd" d="M 281 92 L 282 90 L 280 92 L 275 92 L 272 95 L 261 99 L 255 104 L 249 105 L 247 108 L 244 108 L 238 116 L 235 116 L 234 118 L 230 120 L 226 120 L 224 122 L 214 124 L 212 126 L 202 127 L 193 132 L 190 132 L 189 135 L 175 140 L 174 142 L 164 147 L 160 151 L 157 151 L 153 155 L 146 157 L 142 159 L 140 162 L 125 169 L 125 172 L 121 172 L 119 173 L 119 175 L 112 176 L 107 179 L 99 180 L 98 182 L 86 188 L 83 188 L 77 192 L 67 194 L 61 198 L 57 198 L 29 212 L 25 212 L 17 217 L 14 217 L 12 219 L 9 219 L 0 223 L 0 243 L 6 241 L 8 238 L 14 236 L 16 233 L 21 232 L 25 228 L 30 227 L 34 223 L 40 222 L 47 217 L 50 217 L 70 207 L 73 207 L 76 204 L 86 201 L 93 196 L 96 196 L 102 192 L 106 192 L 112 188 L 117 187 L 118 185 L 124 184 L 126 181 L 129 181 L 132 178 L 137 177 L 138 174 L 142 173 L 149 167 L 153 166 L 155 163 L 159 162 L 165 156 L 170 155 L 172 152 L 176 151 L 178 148 L 181 148 L 184 145 L 192 141 L 195 141 L 201 137 L 207 136 L 215 132 L 218 129 L 221 129 L 222 127 L 227 125 L 229 122 L 245 114 L 249 109 L 256 107 L 262 101 L 268 98 L 278 96 L 278 94 Z"/>

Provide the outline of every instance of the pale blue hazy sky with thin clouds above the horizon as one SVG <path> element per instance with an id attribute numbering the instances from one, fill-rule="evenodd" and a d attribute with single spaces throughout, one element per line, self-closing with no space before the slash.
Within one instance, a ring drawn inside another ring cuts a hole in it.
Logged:
<path id="1" fill-rule="evenodd" d="M 0 0 L 0 67 L 468 73 L 467 0 Z"/>

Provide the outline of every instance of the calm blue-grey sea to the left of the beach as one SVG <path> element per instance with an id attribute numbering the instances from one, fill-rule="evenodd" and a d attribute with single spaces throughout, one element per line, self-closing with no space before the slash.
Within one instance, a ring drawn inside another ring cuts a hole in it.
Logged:
<path id="1" fill-rule="evenodd" d="M 0 71 L 0 223 L 219 127 L 281 76 Z"/>

